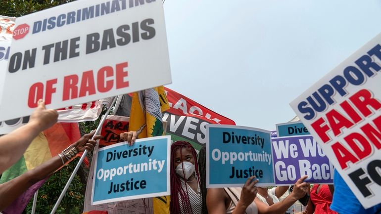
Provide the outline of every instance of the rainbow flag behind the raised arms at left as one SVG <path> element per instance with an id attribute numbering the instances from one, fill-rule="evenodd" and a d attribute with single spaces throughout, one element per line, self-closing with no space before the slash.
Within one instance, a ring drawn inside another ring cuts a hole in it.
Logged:
<path id="1" fill-rule="evenodd" d="M 62 150 L 81 137 L 77 123 L 56 123 L 41 132 L 29 145 L 23 157 L 11 168 L 4 171 L 0 183 L 7 182 L 26 171 L 32 170 L 45 161 L 56 156 Z M 2 211 L 3 214 L 21 214 L 34 193 L 44 184 L 45 180 L 34 184 L 11 206 Z"/>

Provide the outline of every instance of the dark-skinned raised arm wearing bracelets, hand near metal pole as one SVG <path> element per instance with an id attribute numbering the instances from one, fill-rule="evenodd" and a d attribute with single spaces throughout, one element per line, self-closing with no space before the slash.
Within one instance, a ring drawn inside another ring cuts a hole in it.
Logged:
<path id="1" fill-rule="evenodd" d="M 95 140 L 91 140 L 93 134 L 94 132 L 85 134 L 77 142 L 69 146 L 69 150 L 75 148 L 70 154 L 66 156 L 61 154 L 62 158 L 57 155 L 35 169 L 27 171 L 8 182 L 0 184 L 0 211 L 9 206 L 19 195 L 25 192 L 33 184 L 48 177 L 54 171 L 62 167 L 63 164 L 68 162 L 71 157 L 76 155 L 76 153 L 83 152 L 85 149 L 89 151 L 93 150 L 95 145 Z M 102 136 L 97 135 L 94 139 L 100 138 L 102 138 Z M 66 150 L 67 149 L 64 151 Z"/>

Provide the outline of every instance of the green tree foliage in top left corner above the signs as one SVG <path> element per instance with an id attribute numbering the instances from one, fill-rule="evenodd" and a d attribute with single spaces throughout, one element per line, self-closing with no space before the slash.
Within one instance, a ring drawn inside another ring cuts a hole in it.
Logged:
<path id="1" fill-rule="evenodd" d="M 74 0 L 1 0 L 0 15 L 19 17 Z"/>

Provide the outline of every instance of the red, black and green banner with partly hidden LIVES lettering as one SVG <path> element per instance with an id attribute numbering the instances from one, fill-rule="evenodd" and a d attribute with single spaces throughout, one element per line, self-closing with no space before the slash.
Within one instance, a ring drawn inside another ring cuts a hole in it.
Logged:
<path id="1" fill-rule="evenodd" d="M 190 98 L 165 87 L 170 109 L 163 113 L 163 121 L 168 123 L 167 134 L 173 141 L 184 140 L 200 150 L 206 143 L 207 124 L 236 125 L 226 118 Z"/>

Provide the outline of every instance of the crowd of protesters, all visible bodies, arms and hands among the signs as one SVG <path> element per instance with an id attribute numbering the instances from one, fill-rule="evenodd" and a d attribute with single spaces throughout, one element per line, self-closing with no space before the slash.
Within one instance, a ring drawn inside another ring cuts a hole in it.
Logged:
<path id="1" fill-rule="evenodd" d="M 40 100 L 27 125 L 1 136 L 0 173 L 16 163 L 39 132 L 56 123 L 57 117 L 57 112 L 47 110 L 44 101 Z M 34 183 L 65 165 L 77 153 L 93 150 L 96 140 L 102 137 L 93 135 L 94 132 L 85 134 L 41 166 L 0 184 L 0 211 Z M 133 145 L 137 133 L 125 132 L 120 137 Z M 337 172 L 334 173 L 334 185 L 315 184 L 312 188 L 304 182 L 307 178 L 304 175 L 292 186 L 291 193 L 287 192 L 288 186 L 272 189 L 257 187 L 260 181 L 255 176 L 249 177 L 239 188 L 207 189 L 205 147 L 197 156 L 189 142 L 177 141 L 171 146 L 170 157 L 170 214 L 287 214 L 296 201 L 306 196 L 309 200 L 303 214 L 381 213 L 380 204 L 365 210 Z M 286 192 L 288 196 L 280 200 Z"/>

